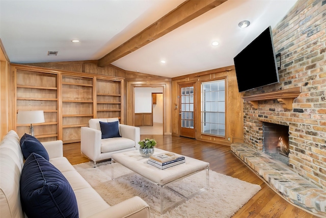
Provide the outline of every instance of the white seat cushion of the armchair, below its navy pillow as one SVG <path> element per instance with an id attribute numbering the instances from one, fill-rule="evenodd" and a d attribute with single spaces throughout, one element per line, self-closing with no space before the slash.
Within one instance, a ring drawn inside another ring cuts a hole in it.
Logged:
<path id="1" fill-rule="evenodd" d="M 135 142 L 129 138 L 105 138 L 101 142 L 101 153 L 131 149 L 135 146 Z"/>

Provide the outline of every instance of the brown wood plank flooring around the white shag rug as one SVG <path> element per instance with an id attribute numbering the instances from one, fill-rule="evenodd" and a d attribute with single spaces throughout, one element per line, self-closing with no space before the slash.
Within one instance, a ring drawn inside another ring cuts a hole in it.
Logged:
<path id="1" fill-rule="evenodd" d="M 265 184 L 259 176 L 239 160 L 230 147 L 204 142 L 195 139 L 171 135 L 141 135 L 141 139 L 155 138 L 156 148 L 179 153 L 209 162 L 212 171 L 225 174 L 243 181 L 261 186 L 261 190 L 233 216 L 242 217 L 284 217 L 316 218 L 305 210 L 288 203 Z M 80 143 L 64 144 L 64 156 L 71 164 L 88 162 L 89 159 L 80 153 Z M 216 205 L 218 207 L 219 205 Z"/>

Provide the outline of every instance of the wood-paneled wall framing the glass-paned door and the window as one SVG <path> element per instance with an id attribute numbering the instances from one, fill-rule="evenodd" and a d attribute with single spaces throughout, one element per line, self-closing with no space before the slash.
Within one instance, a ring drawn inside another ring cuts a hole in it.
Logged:
<path id="1" fill-rule="evenodd" d="M 214 81 L 219 79 L 226 80 L 226 137 L 215 137 L 211 135 L 201 134 L 201 83 Z M 186 83 L 196 83 L 196 139 L 203 141 L 211 141 L 215 143 L 230 145 L 234 142 L 243 142 L 243 100 L 242 94 L 239 93 L 235 75 L 234 66 L 213 69 L 196 74 L 185 75 L 172 78 L 172 134 L 180 135 L 179 127 L 179 101 L 178 91 L 179 85 Z M 230 141 L 228 140 L 230 138 Z"/>

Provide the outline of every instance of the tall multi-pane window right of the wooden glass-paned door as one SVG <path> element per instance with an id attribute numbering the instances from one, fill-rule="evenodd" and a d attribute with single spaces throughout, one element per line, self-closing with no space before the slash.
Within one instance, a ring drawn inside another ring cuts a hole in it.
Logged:
<path id="1" fill-rule="evenodd" d="M 201 132 L 225 136 L 225 80 L 201 84 Z"/>

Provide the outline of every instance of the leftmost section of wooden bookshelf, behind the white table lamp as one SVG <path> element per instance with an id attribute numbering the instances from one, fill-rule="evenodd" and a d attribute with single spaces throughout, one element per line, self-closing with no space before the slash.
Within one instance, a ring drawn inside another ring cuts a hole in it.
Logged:
<path id="1" fill-rule="evenodd" d="M 58 138 L 57 74 L 16 70 L 16 114 L 18 110 L 43 110 L 45 123 L 34 124 L 34 134 L 41 141 Z M 29 133 L 29 124 L 17 124 L 19 136 Z"/>

